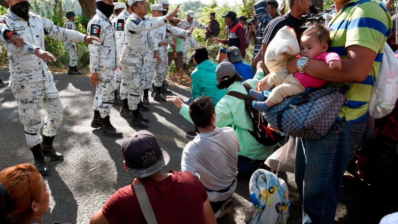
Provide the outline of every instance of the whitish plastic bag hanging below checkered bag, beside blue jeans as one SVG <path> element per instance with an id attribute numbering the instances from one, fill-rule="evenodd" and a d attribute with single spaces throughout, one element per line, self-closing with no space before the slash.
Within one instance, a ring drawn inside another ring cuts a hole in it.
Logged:
<path id="1" fill-rule="evenodd" d="M 281 165 L 279 165 L 279 161 L 281 161 Z M 295 173 L 295 161 L 296 138 L 290 136 L 289 141 L 285 145 L 277 149 L 265 160 L 265 165 L 271 167 L 273 170 L 277 170 L 279 165 L 279 171 Z"/>

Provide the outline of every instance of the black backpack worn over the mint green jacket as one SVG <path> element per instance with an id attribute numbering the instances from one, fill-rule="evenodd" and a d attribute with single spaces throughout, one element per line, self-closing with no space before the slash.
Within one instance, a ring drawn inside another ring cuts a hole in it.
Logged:
<path id="1" fill-rule="evenodd" d="M 246 88 L 248 94 L 245 95 L 241 92 L 230 91 L 227 95 L 245 101 L 245 109 L 253 122 L 254 128 L 254 131 L 247 131 L 259 143 L 263 145 L 275 145 L 282 139 L 281 132 L 268 128 L 268 122 L 265 120 L 263 113 L 256 110 L 252 105 L 253 100 L 256 100 L 256 98 L 250 95 L 250 90 L 252 89 L 252 87 L 248 83 L 243 83 L 243 86 Z"/>

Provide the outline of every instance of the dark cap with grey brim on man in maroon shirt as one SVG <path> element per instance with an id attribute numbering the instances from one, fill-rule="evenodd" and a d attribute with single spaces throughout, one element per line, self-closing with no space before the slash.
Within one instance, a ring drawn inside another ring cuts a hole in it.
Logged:
<path id="1" fill-rule="evenodd" d="M 170 161 L 169 154 L 160 148 L 156 137 L 146 130 L 127 136 L 121 148 L 127 169 L 133 177 L 148 177 Z"/>

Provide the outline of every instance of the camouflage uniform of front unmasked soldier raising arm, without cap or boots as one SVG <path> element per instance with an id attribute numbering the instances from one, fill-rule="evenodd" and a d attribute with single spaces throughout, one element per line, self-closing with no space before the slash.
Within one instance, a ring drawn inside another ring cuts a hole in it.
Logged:
<path id="1" fill-rule="evenodd" d="M 168 21 L 166 16 L 156 18 L 156 20 L 143 20 L 133 12 L 126 22 L 126 40 L 122 51 L 120 63 L 123 74 L 127 79 L 129 88 L 129 107 L 130 110 L 136 110 L 140 102 L 142 91 L 144 90 L 145 60 L 146 48 L 158 50 L 159 41 L 157 41 L 150 30 L 163 26 Z"/>

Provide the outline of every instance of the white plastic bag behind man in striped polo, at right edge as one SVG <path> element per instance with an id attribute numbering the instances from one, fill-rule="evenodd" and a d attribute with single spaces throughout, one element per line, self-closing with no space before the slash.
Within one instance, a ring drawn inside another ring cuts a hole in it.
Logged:
<path id="1" fill-rule="evenodd" d="M 384 55 L 369 100 L 369 115 L 382 118 L 392 112 L 398 99 L 398 59 L 394 52 L 384 44 Z"/>

